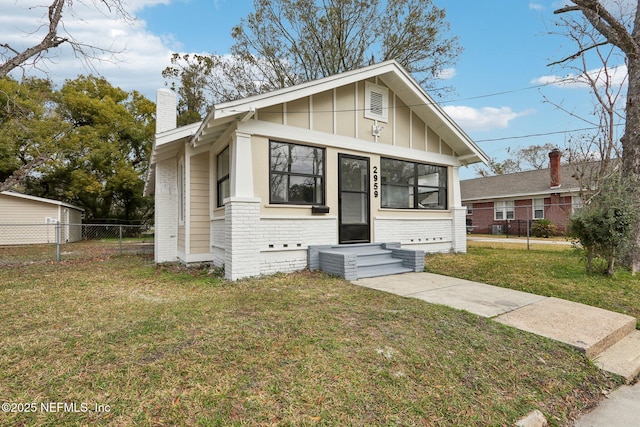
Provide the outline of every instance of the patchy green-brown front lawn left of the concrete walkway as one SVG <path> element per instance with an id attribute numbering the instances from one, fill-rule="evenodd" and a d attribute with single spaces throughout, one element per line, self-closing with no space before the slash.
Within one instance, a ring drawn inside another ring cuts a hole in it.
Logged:
<path id="1" fill-rule="evenodd" d="M 557 426 L 620 384 L 565 345 L 322 273 L 17 266 L 0 312 L 0 401 L 109 407 L 2 425 L 512 425 L 538 408 Z"/>

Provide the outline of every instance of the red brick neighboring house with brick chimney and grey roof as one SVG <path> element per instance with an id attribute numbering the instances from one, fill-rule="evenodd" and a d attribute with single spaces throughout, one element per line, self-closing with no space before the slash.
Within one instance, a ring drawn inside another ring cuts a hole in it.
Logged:
<path id="1" fill-rule="evenodd" d="M 532 221 L 548 219 L 565 232 L 582 206 L 576 167 L 560 165 L 561 153 L 549 153 L 547 169 L 460 181 L 468 232 L 526 235 Z"/>

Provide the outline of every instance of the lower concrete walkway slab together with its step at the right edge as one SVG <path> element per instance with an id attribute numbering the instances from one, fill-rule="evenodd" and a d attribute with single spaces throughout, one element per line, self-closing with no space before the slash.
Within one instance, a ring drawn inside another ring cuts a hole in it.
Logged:
<path id="1" fill-rule="evenodd" d="M 640 331 L 634 317 L 545 298 L 494 320 L 569 344 L 627 383 L 640 374 Z"/>

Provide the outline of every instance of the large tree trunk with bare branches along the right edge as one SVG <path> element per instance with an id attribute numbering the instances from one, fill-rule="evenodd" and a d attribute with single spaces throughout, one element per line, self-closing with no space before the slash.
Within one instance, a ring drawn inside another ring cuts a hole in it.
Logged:
<path id="1" fill-rule="evenodd" d="M 595 32 L 591 41 L 578 45 L 577 52 L 558 61 L 563 63 L 583 58 L 587 52 L 610 44 L 625 57 L 628 85 L 626 93 L 626 121 L 622 143 L 622 173 L 634 190 L 629 195 L 640 209 L 640 1 L 617 2 L 605 7 L 599 0 L 570 0 L 572 5 L 555 11 L 556 14 L 578 12 Z M 614 9 L 617 7 L 617 10 Z M 640 225 L 634 233 L 635 249 L 630 267 L 633 273 L 640 271 Z"/>

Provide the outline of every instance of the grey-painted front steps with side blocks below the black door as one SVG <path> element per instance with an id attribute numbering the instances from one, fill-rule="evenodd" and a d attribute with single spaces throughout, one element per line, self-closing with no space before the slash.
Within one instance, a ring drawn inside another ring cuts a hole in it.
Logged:
<path id="1" fill-rule="evenodd" d="M 310 246 L 309 268 L 347 280 L 423 271 L 424 251 L 400 246 L 395 242 Z"/>

